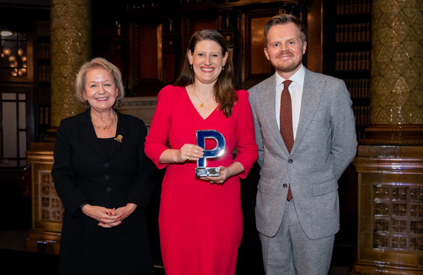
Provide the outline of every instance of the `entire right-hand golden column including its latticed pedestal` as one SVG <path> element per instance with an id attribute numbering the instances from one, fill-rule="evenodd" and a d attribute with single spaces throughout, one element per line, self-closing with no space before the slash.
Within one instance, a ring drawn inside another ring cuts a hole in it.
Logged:
<path id="1" fill-rule="evenodd" d="M 371 127 L 349 274 L 423 274 L 423 0 L 373 0 Z"/>

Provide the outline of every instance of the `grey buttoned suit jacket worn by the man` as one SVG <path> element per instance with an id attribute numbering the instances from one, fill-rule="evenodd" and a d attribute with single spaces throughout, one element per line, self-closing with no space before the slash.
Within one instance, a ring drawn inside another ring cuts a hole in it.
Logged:
<path id="1" fill-rule="evenodd" d="M 350 94 L 342 80 L 305 69 L 300 122 L 289 154 L 276 122 L 275 87 L 273 75 L 248 90 L 261 167 L 257 230 L 276 235 L 288 193 L 283 185 L 290 184 L 307 237 L 333 235 L 339 231 L 337 181 L 357 150 Z"/>

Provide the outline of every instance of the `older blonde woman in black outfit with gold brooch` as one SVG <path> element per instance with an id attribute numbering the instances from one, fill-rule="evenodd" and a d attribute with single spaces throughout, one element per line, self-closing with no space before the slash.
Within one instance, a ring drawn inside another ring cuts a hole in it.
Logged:
<path id="1" fill-rule="evenodd" d="M 119 113 L 119 69 L 96 58 L 75 80 L 87 111 L 61 121 L 51 175 L 66 211 L 59 274 L 153 274 L 145 222 L 153 183 L 147 128 Z"/>

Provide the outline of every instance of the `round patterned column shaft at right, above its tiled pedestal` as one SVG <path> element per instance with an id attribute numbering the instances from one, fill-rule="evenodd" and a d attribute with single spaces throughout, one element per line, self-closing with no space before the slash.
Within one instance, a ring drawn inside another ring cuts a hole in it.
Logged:
<path id="1" fill-rule="evenodd" d="M 423 145 L 422 5 L 373 1 L 372 127 L 363 145 Z"/>

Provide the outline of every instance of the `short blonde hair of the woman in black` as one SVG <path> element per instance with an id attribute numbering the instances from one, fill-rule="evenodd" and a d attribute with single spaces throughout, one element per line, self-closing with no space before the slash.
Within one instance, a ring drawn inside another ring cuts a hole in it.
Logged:
<path id="1" fill-rule="evenodd" d="M 125 91 L 123 88 L 123 82 L 122 82 L 122 75 L 119 71 L 119 69 L 110 63 L 109 61 L 103 59 L 103 58 L 95 58 L 89 62 L 84 63 L 80 70 L 78 71 L 78 74 L 76 75 L 75 79 L 75 94 L 76 98 L 80 101 L 81 106 L 84 108 L 89 108 L 88 101 L 84 99 L 84 93 L 85 93 L 85 81 L 87 78 L 88 71 L 92 69 L 103 69 L 107 71 L 114 79 L 115 86 L 118 90 L 116 101 L 113 107 L 119 107 L 123 103 L 123 97 L 125 96 Z"/>

